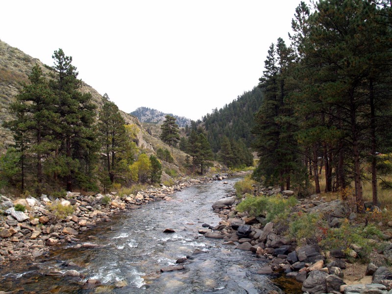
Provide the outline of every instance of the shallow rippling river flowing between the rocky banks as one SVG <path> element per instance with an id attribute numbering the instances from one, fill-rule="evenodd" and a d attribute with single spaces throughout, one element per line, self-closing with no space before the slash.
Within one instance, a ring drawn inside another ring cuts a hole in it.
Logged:
<path id="1" fill-rule="evenodd" d="M 222 245 L 222 240 L 198 234 L 203 223 L 215 226 L 220 218 L 211 205 L 234 191 L 238 178 L 193 185 L 172 195 L 171 201 L 157 201 L 112 217 L 80 237 L 100 248 L 60 247 L 49 257 L 33 263 L 12 263 L 1 267 L 0 290 L 19 293 L 235 293 L 281 292 L 266 275 L 255 254 Z M 163 233 L 172 228 L 174 233 Z M 184 270 L 160 272 L 178 258 L 193 255 Z M 84 279 L 48 275 L 70 270 L 73 262 Z M 87 279 L 98 279 L 100 286 L 88 287 Z"/>

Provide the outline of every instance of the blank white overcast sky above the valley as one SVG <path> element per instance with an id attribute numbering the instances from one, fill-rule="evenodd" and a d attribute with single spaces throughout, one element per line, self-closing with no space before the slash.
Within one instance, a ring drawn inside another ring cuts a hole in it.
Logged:
<path id="1" fill-rule="evenodd" d="M 79 78 L 121 110 L 197 120 L 258 83 L 300 0 L 3 0 L 0 39 Z"/>

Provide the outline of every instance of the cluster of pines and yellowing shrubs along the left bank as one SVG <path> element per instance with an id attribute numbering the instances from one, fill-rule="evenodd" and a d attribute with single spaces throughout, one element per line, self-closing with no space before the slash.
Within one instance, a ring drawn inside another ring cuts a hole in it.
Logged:
<path id="1" fill-rule="evenodd" d="M 52 58 L 49 77 L 35 65 L 11 104 L 15 119 L 4 125 L 15 146 L 0 157 L 0 185 L 40 196 L 59 186 L 97 191 L 115 182 L 159 182 L 161 163 L 140 154 L 137 126 L 125 123 L 107 94 L 98 111 L 62 49 Z"/>

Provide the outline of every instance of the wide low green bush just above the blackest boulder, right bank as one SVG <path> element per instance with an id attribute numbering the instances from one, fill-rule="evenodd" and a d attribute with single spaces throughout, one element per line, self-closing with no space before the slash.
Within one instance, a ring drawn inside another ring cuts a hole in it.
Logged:
<path id="1" fill-rule="evenodd" d="M 237 205 L 239 212 L 247 211 L 250 216 L 265 216 L 266 221 L 286 219 L 288 213 L 296 204 L 295 197 L 284 199 L 282 196 L 252 196 L 246 194 L 245 199 Z"/>

